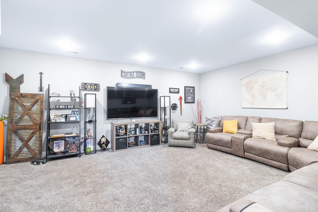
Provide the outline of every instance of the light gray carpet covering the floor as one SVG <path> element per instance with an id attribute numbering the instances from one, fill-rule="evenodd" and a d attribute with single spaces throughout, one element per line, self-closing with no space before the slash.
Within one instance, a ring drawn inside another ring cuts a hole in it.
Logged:
<path id="1" fill-rule="evenodd" d="M 196 144 L 0 165 L 1 212 L 214 212 L 288 172 Z"/>

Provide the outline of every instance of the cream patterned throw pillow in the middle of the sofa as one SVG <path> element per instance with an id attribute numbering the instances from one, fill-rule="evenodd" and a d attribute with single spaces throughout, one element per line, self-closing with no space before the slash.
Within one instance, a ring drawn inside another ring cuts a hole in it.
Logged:
<path id="1" fill-rule="evenodd" d="M 270 122 L 270 123 L 252 122 L 252 137 L 276 141 L 275 122 Z"/>

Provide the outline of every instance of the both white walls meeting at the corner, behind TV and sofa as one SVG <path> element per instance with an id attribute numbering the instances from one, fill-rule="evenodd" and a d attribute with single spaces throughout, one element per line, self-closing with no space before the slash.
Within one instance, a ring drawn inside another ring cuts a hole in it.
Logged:
<path id="1" fill-rule="evenodd" d="M 316 91 L 317 58 L 318 45 L 314 45 L 200 75 L 0 48 L 2 75 L 0 114 L 8 114 L 9 111 L 9 86 L 5 82 L 4 73 L 8 73 L 13 78 L 23 73 L 24 83 L 21 84 L 21 92 L 37 93 L 39 72 L 42 71 L 44 73 L 43 85 L 45 91 L 47 85 L 50 84 L 51 91 L 57 91 L 62 95 L 69 95 L 69 90 L 76 90 L 81 82 L 100 84 L 101 90 L 96 93 L 97 137 L 105 135 L 108 139 L 110 139 L 111 120 L 105 118 L 106 86 L 115 86 L 117 82 L 152 84 L 153 88 L 159 90 L 159 96 L 171 96 L 171 103 L 177 103 L 178 106 L 178 97 L 181 95 L 184 98 L 184 86 L 194 86 L 195 98 L 201 98 L 205 101 L 203 121 L 205 121 L 206 115 L 212 114 L 318 121 L 318 114 L 316 113 L 318 105 Z M 120 77 L 121 69 L 125 71 L 145 71 L 146 79 L 123 79 Z M 287 76 L 288 109 L 241 108 L 240 79 L 259 70 L 289 72 Z M 179 88 L 180 93 L 169 94 L 169 87 Z M 46 100 L 47 93 L 45 93 Z M 195 107 L 196 104 L 193 106 Z M 46 115 L 46 102 L 44 109 Z M 181 118 L 193 119 L 190 104 L 184 104 L 183 101 L 182 109 Z M 179 108 L 176 113 L 171 114 L 171 118 L 180 118 Z M 44 121 L 46 121 L 46 118 Z M 43 144 L 45 144 L 45 136 L 44 133 Z M 5 143 L 6 138 L 5 133 Z"/>

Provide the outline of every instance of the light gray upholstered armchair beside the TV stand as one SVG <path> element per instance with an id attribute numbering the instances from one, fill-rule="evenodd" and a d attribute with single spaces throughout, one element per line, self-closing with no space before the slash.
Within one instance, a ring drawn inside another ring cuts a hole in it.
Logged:
<path id="1" fill-rule="evenodd" d="M 194 133 L 192 119 L 174 119 L 168 130 L 168 145 L 194 147 Z"/>

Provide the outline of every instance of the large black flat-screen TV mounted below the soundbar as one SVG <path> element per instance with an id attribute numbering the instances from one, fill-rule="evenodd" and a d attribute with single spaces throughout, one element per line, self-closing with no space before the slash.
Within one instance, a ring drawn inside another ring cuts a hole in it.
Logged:
<path id="1" fill-rule="evenodd" d="M 158 117 L 158 90 L 107 87 L 107 119 Z"/>

